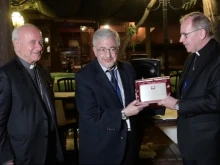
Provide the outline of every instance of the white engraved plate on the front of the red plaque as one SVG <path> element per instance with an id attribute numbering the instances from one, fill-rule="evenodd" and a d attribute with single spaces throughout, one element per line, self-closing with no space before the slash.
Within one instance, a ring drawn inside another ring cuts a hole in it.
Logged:
<path id="1" fill-rule="evenodd" d="M 165 99 L 167 96 L 166 83 L 152 83 L 152 84 L 142 84 L 140 85 L 140 100 L 157 102 L 159 100 Z"/>

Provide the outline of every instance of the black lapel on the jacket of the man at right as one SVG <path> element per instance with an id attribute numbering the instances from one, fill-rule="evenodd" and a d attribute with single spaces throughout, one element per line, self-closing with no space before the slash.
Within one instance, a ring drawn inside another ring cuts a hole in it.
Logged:
<path id="1" fill-rule="evenodd" d="M 209 62 L 211 56 L 211 52 L 214 50 L 216 44 L 213 43 L 213 39 L 206 44 L 201 51 L 199 51 L 200 56 L 197 57 L 195 61 L 195 70 L 192 72 L 191 77 L 188 78 L 188 85 L 184 90 L 183 96 L 187 93 L 187 91 L 192 87 L 193 82 L 197 79 L 198 75 L 202 72 L 202 70 L 206 67 Z M 191 61 L 192 63 L 192 61 Z"/>

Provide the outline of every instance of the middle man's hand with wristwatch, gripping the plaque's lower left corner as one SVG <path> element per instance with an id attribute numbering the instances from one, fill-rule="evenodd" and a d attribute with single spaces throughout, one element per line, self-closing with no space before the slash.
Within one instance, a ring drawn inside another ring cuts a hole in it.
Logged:
<path id="1" fill-rule="evenodd" d="M 137 115 L 144 107 L 149 106 L 147 102 L 139 102 L 137 100 L 132 101 L 125 109 L 126 116 Z"/>

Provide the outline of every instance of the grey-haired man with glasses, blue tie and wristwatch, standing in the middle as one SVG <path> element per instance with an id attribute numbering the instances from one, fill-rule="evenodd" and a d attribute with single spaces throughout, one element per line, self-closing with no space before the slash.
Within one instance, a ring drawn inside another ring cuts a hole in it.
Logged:
<path id="1" fill-rule="evenodd" d="M 117 61 L 118 33 L 98 29 L 93 46 L 96 58 L 75 75 L 80 163 L 134 164 L 135 115 L 148 104 L 135 100 L 131 64 Z"/>

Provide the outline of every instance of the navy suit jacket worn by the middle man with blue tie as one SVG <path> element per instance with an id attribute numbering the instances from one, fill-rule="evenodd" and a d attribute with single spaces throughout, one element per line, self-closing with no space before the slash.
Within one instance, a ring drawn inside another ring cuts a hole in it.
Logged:
<path id="1" fill-rule="evenodd" d="M 127 106 L 135 99 L 135 74 L 129 63 L 118 62 L 117 66 Z M 80 116 L 80 163 L 120 164 L 125 153 L 127 124 L 121 119 L 123 107 L 106 73 L 94 59 L 76 73 L 75 80 L 76 104 Z M 134 117 L 130 117 L 130 122 L 134 142 L 132 148 L 136 151 Z"/>

